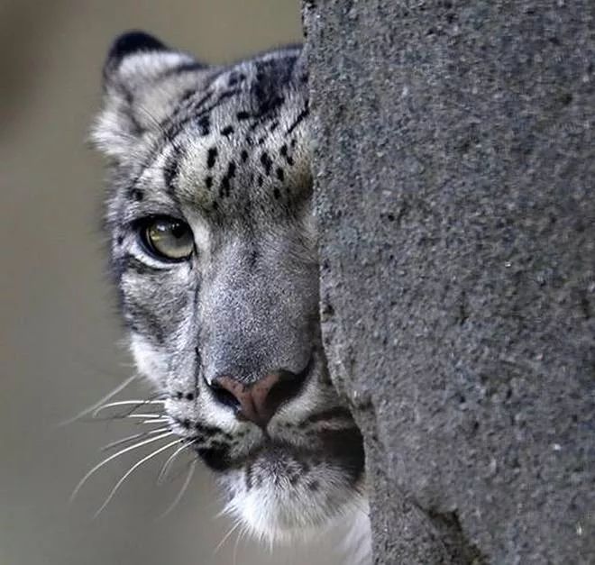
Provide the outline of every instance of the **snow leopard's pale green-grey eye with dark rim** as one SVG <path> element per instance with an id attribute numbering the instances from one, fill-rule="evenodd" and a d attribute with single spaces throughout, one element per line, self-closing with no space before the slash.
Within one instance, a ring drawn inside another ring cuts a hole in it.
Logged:
<path id="1" fill-rule="evenodd" d="M 188 223 L 169 216 L 151 218 L 141 226 L 139 234 L 145 249 L 157 259 L 182 261 L 194 249 Z"/>

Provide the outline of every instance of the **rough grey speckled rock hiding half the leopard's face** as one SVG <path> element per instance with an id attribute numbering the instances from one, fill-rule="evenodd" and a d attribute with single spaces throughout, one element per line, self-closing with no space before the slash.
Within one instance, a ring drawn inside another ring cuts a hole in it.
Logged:
<path id="1" fill-rule="evenodd" d="M 595 4 L 304 4 L 378 563 L 595 563 Z"/>

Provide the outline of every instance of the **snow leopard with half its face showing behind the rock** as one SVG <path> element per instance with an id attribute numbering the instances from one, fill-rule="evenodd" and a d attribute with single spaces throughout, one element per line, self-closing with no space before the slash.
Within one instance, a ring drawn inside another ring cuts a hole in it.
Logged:
<path id="1" fill-rule="evenodd" d="M 103 84 L 109 263 L 162 426 L 146 442 L 196 454 L 270 542 L 361 512 L 362 434 L 320 329 L 301 47 L 213 66 L 126 32 Z"/>

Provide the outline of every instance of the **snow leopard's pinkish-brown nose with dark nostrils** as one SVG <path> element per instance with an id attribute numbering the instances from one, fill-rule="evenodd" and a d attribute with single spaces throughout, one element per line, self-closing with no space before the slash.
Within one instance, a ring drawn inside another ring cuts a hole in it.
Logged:
<path id="1" fill-rule="evenodd" d="M 215 378 L 209 387 L 219 403 L 235 409 L 238 419 L 265 429 L 279 407 L 298 395 L 307 372 L 278 370 L 249 384 L 224 375 Z"/>

